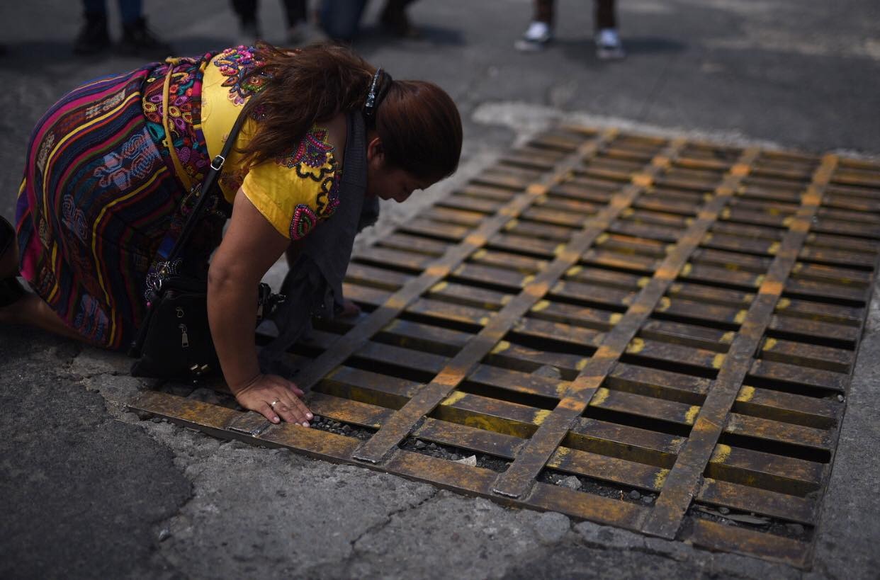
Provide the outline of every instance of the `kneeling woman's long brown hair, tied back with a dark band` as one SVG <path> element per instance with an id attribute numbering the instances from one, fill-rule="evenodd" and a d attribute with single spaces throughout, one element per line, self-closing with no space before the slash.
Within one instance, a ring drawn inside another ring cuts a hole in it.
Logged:
<path id="1" fill-rule="evenodd" d="M 350 49 L 334 44 L 289 52 L 260 43 L 257 59 L 262 64 L 248 77 L 263 77 L 266 86 L 242 111 L 259 121 L 242 150 L 247 165 L 290 153 L 316 122 L 362 109 L 376 72 Z M 458 167 L 461 118 L 436 84 L 393 81 L 376 109 L 375 129 L 389 165 L 430 180 Z"/>

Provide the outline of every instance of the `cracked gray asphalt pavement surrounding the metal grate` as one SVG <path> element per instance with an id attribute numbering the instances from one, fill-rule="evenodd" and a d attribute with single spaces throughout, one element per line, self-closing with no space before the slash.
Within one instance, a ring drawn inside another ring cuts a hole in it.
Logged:
<path id="1" fill-rule="evenodd" d="M 180 55 L 237 40 L 224 2 L 144 4 Z M 394 77 L 444 86 L 466 144 L 457 176 L 386 207 L 361 245 L 555 121 L 880 153 L 880 4 L 871 0 L 624 0 L 629 56 L 618 63 L 593 57 L 590 10 L 575 0 L 557 3 L 557 40 L 537 55 L 512 48 L 531 0 L 423 0 L 411 11 L 422 40 L 387 38 L 375 26 L 380 4 L 370 4 L 356 48 Z M 279 3 L 264 0 L 261 18 L 268 40 L 282 40 Z M 140 63 L 74 58 L 78 24 L 76 2 L 0 4 L 6 217 L 40 114 L 77 83 Z M 876 577 L 878 330 L 875 300 L 804 572 L 141 421 L 125 403 L 150 384 L 128 376 L 125 356 L 0 327 L 0 576 Z"/>

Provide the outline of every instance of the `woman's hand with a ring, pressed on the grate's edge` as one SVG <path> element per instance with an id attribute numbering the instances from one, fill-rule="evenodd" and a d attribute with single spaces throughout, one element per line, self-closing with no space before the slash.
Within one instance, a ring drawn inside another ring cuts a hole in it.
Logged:
<path id="1" fill-rule="evenodd" d="M 303 392 L 292 381 L 278 375 L 264 374 L 257 375 L 247 385 L 236 389 L 235 393 L 242 407 L 260 413 L 271 422 L 277 423 L 283 419 L 308 427 L 314 415 L 300 400 L 302 396 Z"/>

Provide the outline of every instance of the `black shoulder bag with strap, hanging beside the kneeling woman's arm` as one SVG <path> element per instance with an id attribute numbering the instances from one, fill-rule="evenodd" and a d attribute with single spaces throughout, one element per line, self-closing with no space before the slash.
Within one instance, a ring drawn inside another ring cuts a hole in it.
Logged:
<path id="1" fill-rule="evenodd" d="M 223 151 L 211 161 L 201 187 L 193 192 L 196 202 L 167 261 L 148 279 L 147 313 L 128 350 L 129 356 L 138 359 L 131 366 L 135 377 L 193 381 L 220 371 L 208 324 L 207 276 L 187 273 L 181 264 L 187 241 L 206 213 L 209 199 L 222 195 L 217 178 L 244 121 L 245 116 L 238 115 Z M 272 294 L 268 284 L 260 283 L 258 319 L 268 315 L 282 299 Z"/>

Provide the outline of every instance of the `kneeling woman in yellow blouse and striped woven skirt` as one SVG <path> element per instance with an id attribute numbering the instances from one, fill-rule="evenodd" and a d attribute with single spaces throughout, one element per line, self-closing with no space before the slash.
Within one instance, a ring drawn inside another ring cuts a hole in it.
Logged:
<path id="1" fill-rule="evenodd" d="M 453 173 L 461 151 L 449 95 L 392 80 L 348 48 L 229 48 L 102 77 L 64 96 L 33 130 L 15 230 L 0 217 L 0 321 L 128 349 L 160 246 L 180 229 L 187 192 L 239 114 L 246 122 L 211 207 L 221 218 L 200 223 L 185 260 L 208 269 L 210 332 L 239 404 L 307 426 L 312 414 L 297 385 L 260 371 L 260 279 L 283 253 L 308 246 L 316 227 L 347 229 L 340 239 L 350 253 L 358 219 L 333 217 L 363 204 L 340 195 L 352 123 L 365 123 L 366 200 L 407 200 Z"/>

